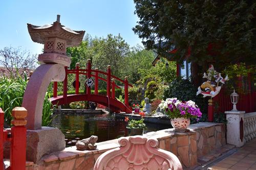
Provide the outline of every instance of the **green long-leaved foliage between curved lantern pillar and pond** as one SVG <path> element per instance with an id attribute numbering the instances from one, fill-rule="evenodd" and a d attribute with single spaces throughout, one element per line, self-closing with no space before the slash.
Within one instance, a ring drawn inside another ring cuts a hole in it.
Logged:
<path id="1" fill-rule="evenodd" d="M 49 126 L 55 117 L 53 116 L 53 110 L 57 106 L 52 105 L 51 101 L 49 100 L 50 98 L 50 93 L 46 92 L 44 106 L 42 108 L 42 126 Z"/>

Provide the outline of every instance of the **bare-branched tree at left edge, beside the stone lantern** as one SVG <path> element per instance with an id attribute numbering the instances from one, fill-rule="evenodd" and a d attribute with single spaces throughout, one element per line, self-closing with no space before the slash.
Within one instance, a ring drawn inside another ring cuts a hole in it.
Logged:
<path id="1" fill-rule="evenodd" d="M 4 47 L 0 50 L 1 75 L 5 76 L 24 76 L 24 71 L 28 73 L 31 68 L 35 68 L 36 55 L 29 51 L 22 51 L 21 47 Z M 17 74 L 18 73 L 18 74 Z"/>

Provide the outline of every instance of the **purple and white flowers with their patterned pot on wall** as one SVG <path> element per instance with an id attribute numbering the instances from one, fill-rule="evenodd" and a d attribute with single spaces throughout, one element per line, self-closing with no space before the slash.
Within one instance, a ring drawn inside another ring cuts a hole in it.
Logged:
<path id="1" fill-rule="evenodd" d="M 160 107 L 170 118 L 170 123 L 176 131 L 185 132 L 190 125 L 189 118 L 199 118 L 202 116 L 200 108 L 193 101 L 181 102 L 177 98 L 170 98 L 162 101 Z"/>

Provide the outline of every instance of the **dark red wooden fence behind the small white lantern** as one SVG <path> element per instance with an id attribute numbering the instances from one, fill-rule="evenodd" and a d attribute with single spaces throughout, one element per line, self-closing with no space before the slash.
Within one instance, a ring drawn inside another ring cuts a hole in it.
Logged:
<path id="1" fill-rule="evenodd" d="M 225 112 L 232 110 L 232 103 L 230 95 L 225 94 L 223 91 L 214 98 L 214 101 L 219 105 L 219 111 Z M 246 113 L 256 111 L 256 92 L 248 94 L 239 94 L 237 109 L 245 111 Z"/>

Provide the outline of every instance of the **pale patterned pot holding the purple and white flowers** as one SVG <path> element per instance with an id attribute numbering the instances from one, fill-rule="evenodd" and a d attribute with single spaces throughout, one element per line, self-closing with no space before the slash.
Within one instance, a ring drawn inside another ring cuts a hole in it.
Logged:
<path id="1" fill-rule="evenodd" d="M 190 119 L 184 117 L 178 117 L 170 119 L 170 124 L 174 127 L 177 132 L 186 132 L 187 127 L 190 125 Z"/>

